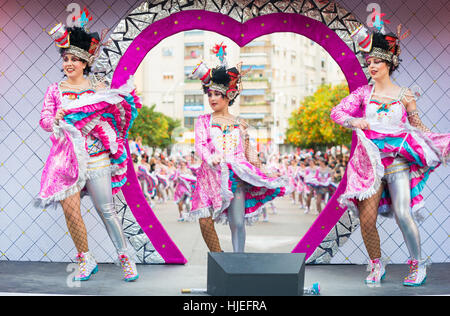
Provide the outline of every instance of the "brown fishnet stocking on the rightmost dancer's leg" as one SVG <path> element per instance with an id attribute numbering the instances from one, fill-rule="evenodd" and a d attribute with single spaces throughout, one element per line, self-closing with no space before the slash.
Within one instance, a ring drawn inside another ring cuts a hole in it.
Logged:
<path id="1" fill-rule="evenodd" d="M 382 193 L 383 184 L 380 185 L 378 191 L 370 198 L 358 202 L 361 235 L 371 260 L 381 258 L 380 236 L 378 235 L 377 230 L 377 215 Z"/>

